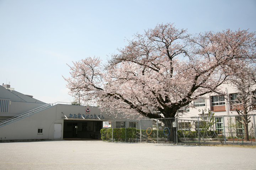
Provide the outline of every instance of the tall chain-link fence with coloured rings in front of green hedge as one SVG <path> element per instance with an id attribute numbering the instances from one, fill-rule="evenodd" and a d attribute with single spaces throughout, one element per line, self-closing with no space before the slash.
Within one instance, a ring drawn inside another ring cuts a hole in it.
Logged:
<path id="1" fill-rule="evenodd" d="M 110 121 L 103 141 L 256 145 L 256 115 Z"/>

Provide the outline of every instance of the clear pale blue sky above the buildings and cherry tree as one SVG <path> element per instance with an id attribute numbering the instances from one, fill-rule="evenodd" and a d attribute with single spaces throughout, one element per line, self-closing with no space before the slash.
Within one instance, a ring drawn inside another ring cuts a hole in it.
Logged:
<path id="1" fill-rule="evenodd" d="M 256 0 L 0 0 L 0 83 L 46 103 L 72 102 L 72 61 L 117 53 L 157 24 L 188 33 L 256 32 Z"/>

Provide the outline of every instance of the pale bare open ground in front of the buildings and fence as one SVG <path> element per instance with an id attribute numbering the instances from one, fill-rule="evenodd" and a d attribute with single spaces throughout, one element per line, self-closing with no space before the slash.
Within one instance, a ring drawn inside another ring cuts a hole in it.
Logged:
<path id="1" fill-rule="evenodd" d="M 0 143 L 1 170 L 256 170 L 256 148 L 102 141 Z"/>

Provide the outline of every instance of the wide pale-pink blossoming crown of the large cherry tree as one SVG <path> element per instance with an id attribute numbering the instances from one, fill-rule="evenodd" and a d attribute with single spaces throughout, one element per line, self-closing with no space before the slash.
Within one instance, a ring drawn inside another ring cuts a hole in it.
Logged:
<path id="1" fill-rule="evenodd" d="M 73 62 L 70 94 L 125 115 L 175 118 L 181 107 L 255 62 L 255 33 L 224 30 L 190 35 L 173 24 L 135 34 L 103 67 L 98 57 Z"/>

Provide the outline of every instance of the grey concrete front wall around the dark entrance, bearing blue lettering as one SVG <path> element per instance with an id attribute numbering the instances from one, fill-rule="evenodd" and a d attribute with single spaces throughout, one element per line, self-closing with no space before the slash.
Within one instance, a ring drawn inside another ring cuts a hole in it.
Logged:
<path id="1" fill-rule="evenodd" d="M 87 108 L 90 109 L 90 113 L 86 113 Z M 101 113 L 101 110 L 98 107 L 57 104 L 0 127 L 0 141 L 54 139 L 54 124 L 61 124 L 60 138 L 63 139 L 64 119 L 84 120 L 83 118 L 70 118 L 70 115 L 75 114 L 90 115 L 90 117 L 86 119 L 87 121 L 100 120 L 97 117 L 95 118 L 95 115 L 100 117 L 101 121 L 112 120 L 108 114 Z M 67 118 L 65 118 L 65 116 Z M 38 128 L 43 129 L 42 134 L 38 134 Z"/>

